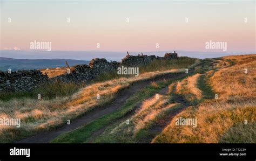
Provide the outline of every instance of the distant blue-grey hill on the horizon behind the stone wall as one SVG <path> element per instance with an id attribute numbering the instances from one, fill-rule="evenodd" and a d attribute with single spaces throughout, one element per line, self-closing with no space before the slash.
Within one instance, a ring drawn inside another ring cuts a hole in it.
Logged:
<path id="1" fill-rule="evenodd" d="M 23 69 L 66 67 L 65 61 L 68 61 L 70 66 L 89 64 L 90 62 L 72 59 L 13 59 L 0 57 L 0 70 L 7 71 L 10 68 L 12 71 L 17 71 Z"/>

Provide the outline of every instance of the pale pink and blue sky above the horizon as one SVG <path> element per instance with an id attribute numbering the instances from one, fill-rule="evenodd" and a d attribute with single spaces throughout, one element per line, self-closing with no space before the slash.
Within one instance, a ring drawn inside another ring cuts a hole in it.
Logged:
<path id="1" fill-rule="evenodd" d="M 5 51 L 36 40 L 52 51 L 255 53 L 255 1 L 2 0 L 0 37 Z"/>

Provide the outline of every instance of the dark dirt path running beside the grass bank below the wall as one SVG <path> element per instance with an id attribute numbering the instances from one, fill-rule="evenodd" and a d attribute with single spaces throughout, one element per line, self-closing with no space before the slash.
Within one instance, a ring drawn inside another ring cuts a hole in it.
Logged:
<path id="1" fill-rule="evenodd" d="M 114 110 L 120 108 L 122 104 L 125 103 L 126 99 L 128 99 L 134 93 L 150 85 L 151 81 L 158 82 L 163 79 L 174 80 L 174 79 L 181 78 L 182 76 L 185 76 L 185 75 L 186 75 L 185 73 L 171 73 L 171 74 L 159 76 L 158 78 L 154 78 L 151 80 L 133 83 L 133 85 L 131 85 L 130 87 L 118 93 L 118 95 L 116 96 L 116 98 L 111 104 L 108 104 L 103 108 L 96 108 L 95 110 L 92 110 L 90 113 L 87 113 L 84 116 L 71 121 L 70 125 L 64 125 L 63 127 L 56 129 L 55 131 L 42 132 L 41 134 L 37 134 L 35 136 L 25 138 L 14 143 L 49 143 L 53 138 L 56 138 L 58 135 L 63 134 L 64 132 L 74 130 L 82 125 L 85 125 L 86 123 L 89 123 L 92 120 L 95 120 L 96 118 L 112 113 Z"/>

